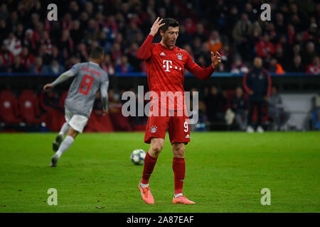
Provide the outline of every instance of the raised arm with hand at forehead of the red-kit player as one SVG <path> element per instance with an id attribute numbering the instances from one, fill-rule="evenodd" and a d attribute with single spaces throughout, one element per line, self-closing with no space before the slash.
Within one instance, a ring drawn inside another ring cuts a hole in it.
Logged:
<path id="1" fill-rule="evenodd" d="M 163 19 L 159 20 L 159 17 L 156 18 L 156 21 L 154 21 L 154 24 L 152 25 L 150 29 L 149 35 L 146 37 L 146 40 L 144 40 L 144 43 L 142 46 L 139 48 L 137 52 L 137 58 L 139 60 L 146 61 L 151 57 L 151 43 L 152 40 L 154 39 L 154 35 L 158 32 L 159 28 L 161 26 L 164 26 L 164 23 L 161 23 Z"/>

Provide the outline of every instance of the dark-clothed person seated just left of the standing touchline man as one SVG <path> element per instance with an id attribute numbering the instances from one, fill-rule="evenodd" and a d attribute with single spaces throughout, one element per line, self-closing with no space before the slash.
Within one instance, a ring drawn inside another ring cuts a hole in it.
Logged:
<path id="1" fill-rule="evenodd" d="M 235 95 L 230 101 L 230 107 L 235 113 L 235 121 L 240 126 L 242 131 L 247 128 L 247 114 L 248 114 L 248 103 L 243 96 L 243 91 L 241 87 L 235 89 Z"/>

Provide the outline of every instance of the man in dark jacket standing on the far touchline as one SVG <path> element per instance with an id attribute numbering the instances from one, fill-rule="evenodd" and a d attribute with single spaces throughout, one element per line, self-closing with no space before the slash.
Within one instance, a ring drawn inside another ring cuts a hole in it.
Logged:
<path id="1" fill-rule="evenodd" d="M 255 106 L 257 106 L 257 132 L 263 133 L 262 110 L 264 101 L 266 101 L 270 96 L 271 77 L 266 70 L 262 69 L 262 59 L 260 57 L 255 57 L 253 65 L 253 69 L 243 77 L 243 87 L 247 94 L 249 94 L 250 101 L 247 132 L 252 133 L 254 131 L 252 128 L 252 115 L 255 110 Z"/>

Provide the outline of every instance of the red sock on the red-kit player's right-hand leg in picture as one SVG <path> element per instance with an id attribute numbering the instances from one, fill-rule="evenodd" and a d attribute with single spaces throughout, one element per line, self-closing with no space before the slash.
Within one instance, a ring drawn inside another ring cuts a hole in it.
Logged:
<path id="1" fill-rule="evenodd" d="M 172 170 L 174 170 L 174 194 L 182 193 L 183 181 L 186 175 L 186 162 L 184 162 L 184 157 L 174 157 Z"/>

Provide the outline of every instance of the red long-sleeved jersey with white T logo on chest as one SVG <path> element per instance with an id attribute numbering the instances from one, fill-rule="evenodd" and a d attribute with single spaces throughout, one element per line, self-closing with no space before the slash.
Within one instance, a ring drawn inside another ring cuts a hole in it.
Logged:
<path id="1" fill-rule="evenodd" d="M 156 92 L 159 97 L 159 101 L 156 99 L 151 100 L 158 101 L 161 107 L 174 110 L 184 109 L 184 69 L 187 69 L 200 79 L 208 79 L 214 69 L 212 66 L 206 69 L 199 67 L 193 62 L 193 59 L 186 50 L 176 46 L 168 49 L 161 45 L 161 43 L 151 43 L 153 38 L 154 36 L 148 35 L 137 52 L 137 57 L 140 60 L 144 60 L 146 64 L 149 91 Z M 176 98 L 169 95 L 169 99 L 166 101 L 166 105 L 164 105 L 161 101 L 163 100 L 161 98 L 164 98 L 161 92 L 175 94 Z"/>

